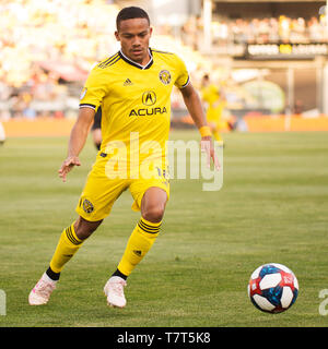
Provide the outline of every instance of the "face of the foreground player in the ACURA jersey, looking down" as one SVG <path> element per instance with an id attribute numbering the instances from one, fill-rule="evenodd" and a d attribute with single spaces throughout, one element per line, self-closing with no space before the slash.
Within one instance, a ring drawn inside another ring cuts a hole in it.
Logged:
<path id="1" fill-rule="evenodd" d="M 147 19 L 131 19 L 121 21 L 115 32 L 116 39 L 120 41 L 122 52 L 139 64 L 149 61 L 149 40 L 152 28 Z"/>

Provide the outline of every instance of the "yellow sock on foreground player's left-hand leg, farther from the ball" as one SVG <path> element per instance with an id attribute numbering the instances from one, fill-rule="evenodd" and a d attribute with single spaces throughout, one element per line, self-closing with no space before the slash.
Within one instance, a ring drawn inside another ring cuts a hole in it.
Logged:
<path id="1" fill-rule="evenodd" d="M 80 240 L 74 231 L 74 225 L 66 228 L 58 241 L 56 251 L 50 262 L 50 268 L 55 273 L 60 273 L 63 265 L 78 252 L 83 240 Z"/>

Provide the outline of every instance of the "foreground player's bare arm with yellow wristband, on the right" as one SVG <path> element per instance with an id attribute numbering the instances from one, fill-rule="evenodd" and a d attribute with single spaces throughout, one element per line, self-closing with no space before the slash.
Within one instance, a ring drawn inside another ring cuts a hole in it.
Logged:
<path id="1" fill-rule="evenodd" d="M 208 156 L 208 166 L 210 166 L 212 159 L 215 168 L 219 170 L 219 159 L 214 152 L 211 131 L 207 123 L 199 95 L 190 82 L 187 86 L 180 88 L 180 92 L 183 94 L 184 101 L 189 111 L 189 115 L 201 134 L 200 147 L 201 151 L 204 152 Z"/>

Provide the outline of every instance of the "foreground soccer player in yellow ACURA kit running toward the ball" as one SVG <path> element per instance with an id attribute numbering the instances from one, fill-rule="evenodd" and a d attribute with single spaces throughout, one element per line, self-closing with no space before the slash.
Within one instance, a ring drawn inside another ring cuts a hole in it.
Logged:
<path id="1" fill-rule="evenodd" d="M 32 305 L 48 302 L 65 264 L 109 215 L 119 195 L 129 189 L 134 200 L 132 208 L 141 210 L 141 217 L 104 287 L 109 305 L 126 305 L 126 280 L 159 236 L 169 197 L 165 143 L 174 85 L 180 89 L 200 131 L 200 145 L 208 161 L 212 159 L 216 168 L 220 166 L 200 99 L 184 62 L 176 55 L 149 47 L 152 28 L 142 9 L 122 9 L 116 24 L 115 36 L 121 48 L 97 64 L 87 77 L 59 177 L 66 181 L 68 172 L 81 165 L 79 154 L 99 106 L 101 151 L 77 205 L 79 217 L 63 229 L 48 269 L 28 296 Z"/>

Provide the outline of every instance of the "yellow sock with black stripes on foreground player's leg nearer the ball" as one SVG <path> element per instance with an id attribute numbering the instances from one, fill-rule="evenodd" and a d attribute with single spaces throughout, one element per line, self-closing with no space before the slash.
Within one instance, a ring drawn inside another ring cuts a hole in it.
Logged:
<path id="1" fill-rule="evenodd" d="M 129 276 L 136 265 L 141 262 L 147 252 L 151 249 L 160 232 L 162 221 L 151 222 L 141 217 L 132 231 L 126 251 L 118 264 L 118 269 Z"/>

